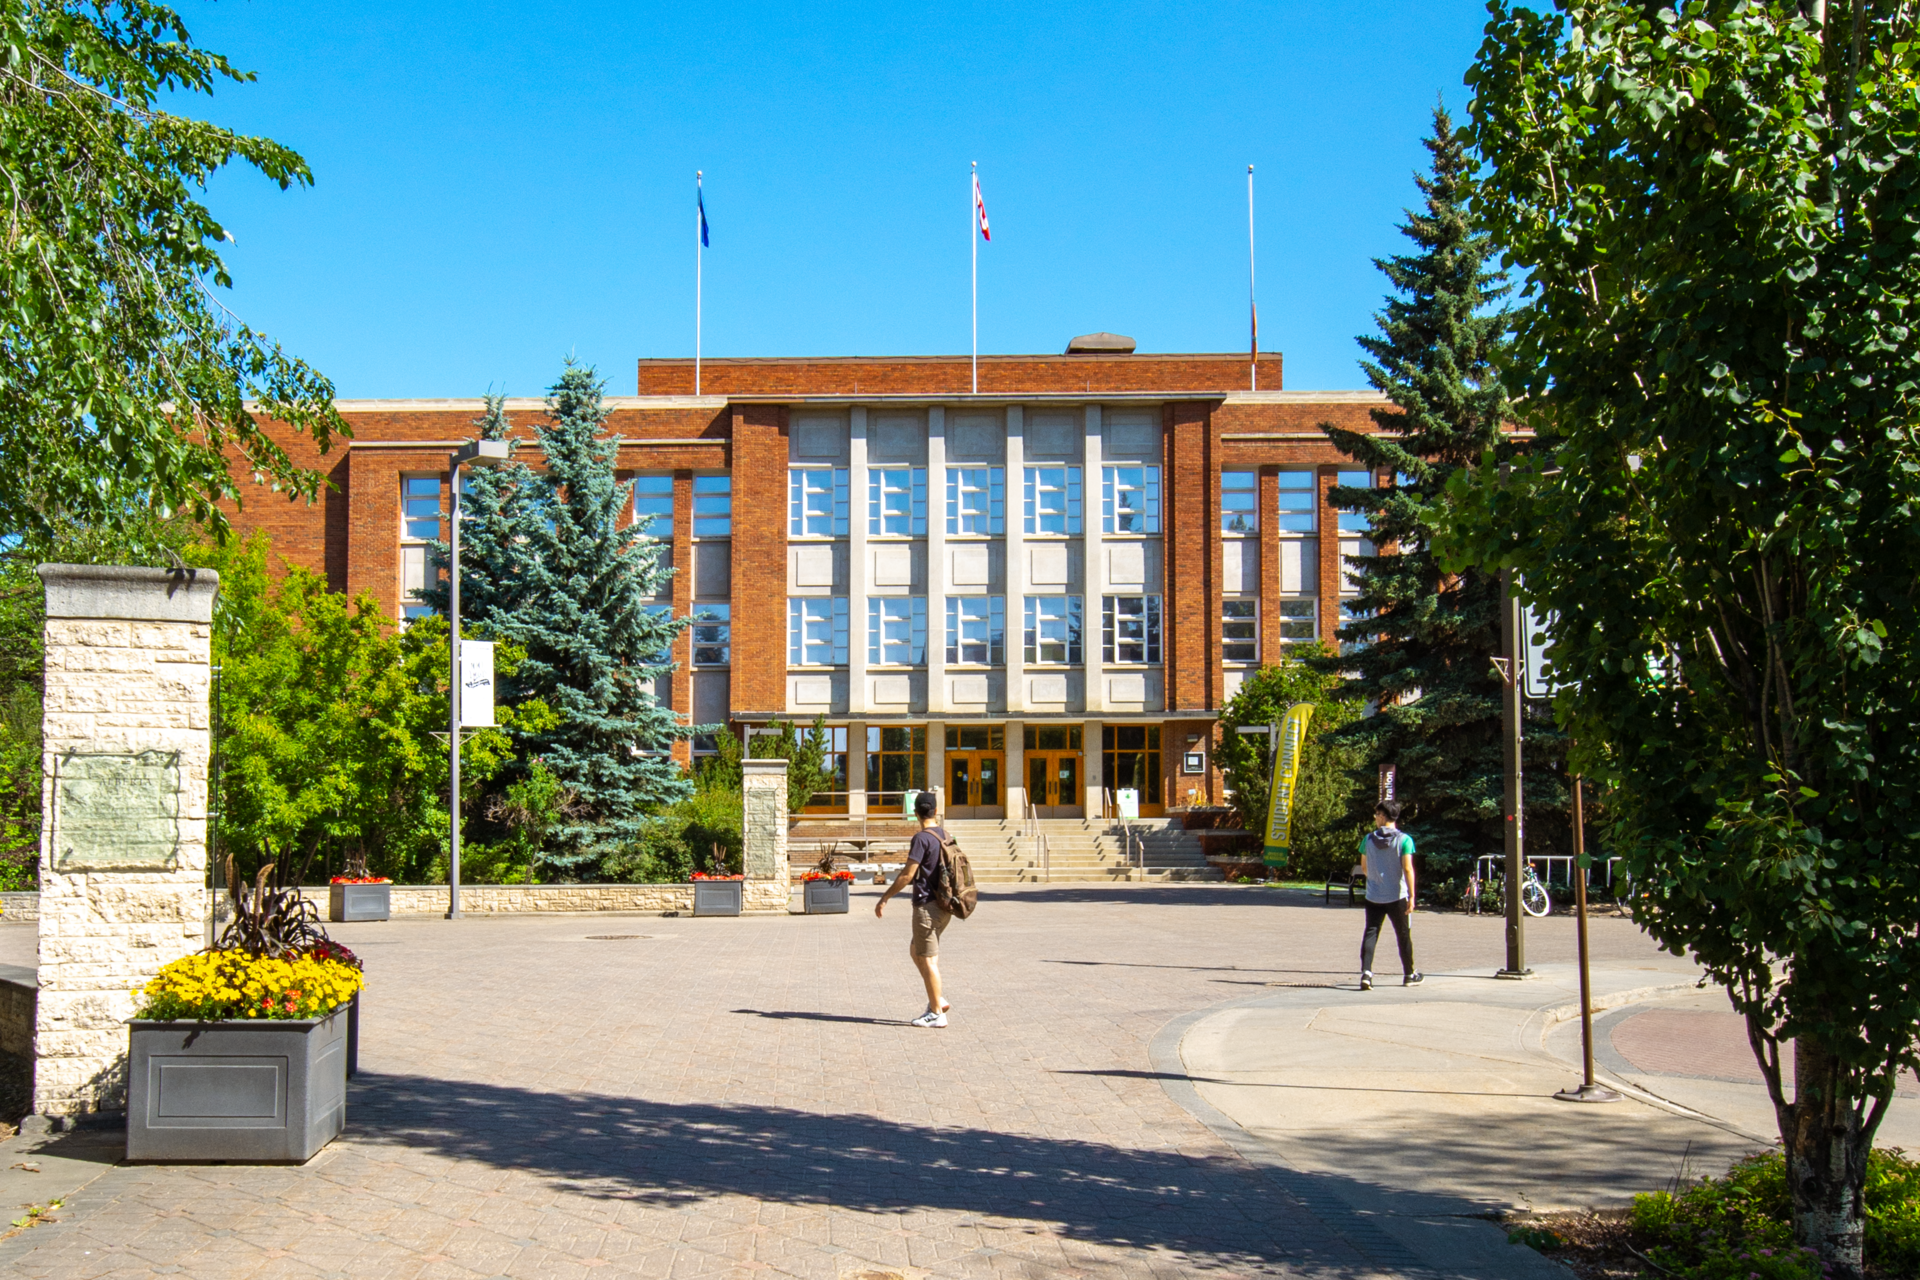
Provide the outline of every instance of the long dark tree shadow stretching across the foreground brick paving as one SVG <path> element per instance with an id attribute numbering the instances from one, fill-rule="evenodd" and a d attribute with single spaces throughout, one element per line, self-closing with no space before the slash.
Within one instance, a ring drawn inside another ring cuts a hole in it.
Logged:
<path id="1" fill-rule="evenodd" d="M 1283 1257 L 1323 1276 L 1365 1270 L 1354 1242 L 1369 1232 L 1323 1224 L 1225 1153 L 372 1073 L 353 1080 L 348 1107 L 359 1146 L 528 1171 L 605 1199 L 685 1209 L 695 1197 L 749 1196 L 864 1213 L 958 1211 L 1048 1222 L 1100 1245 L 1175 1249 L 1242 1274 L 1271 1274 Z"/>

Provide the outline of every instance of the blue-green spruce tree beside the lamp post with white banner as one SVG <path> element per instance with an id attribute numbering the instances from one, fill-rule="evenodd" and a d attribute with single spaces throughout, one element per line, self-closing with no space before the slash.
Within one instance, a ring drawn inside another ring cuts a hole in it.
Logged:
<path id="1" fill-rule="evenodd" d="M 662 543 L 620 524 L 634 486 L 614 480 L 620 445 L 601 438 L 601 388 L 568 361 L 536 426 L 545 470 L 480 468 L 461 495 L 461 618 L 480 637 L 526 649 L 501 697 L 541 699 L 561 718 L 518 735 L 505 777 L 524 777 L 538 760 L 574 793 L 541 858 L 566 879 L 597 877 L 609 854 L 639 839 L 649 812 L 691 793 L 666 754 L 687 727 L 653 693 L 687 624 L 655 603 L 672 574 Z M 505 436 L 497 399 L 480 428 Z M 428 599 L 444 610 L 445 587 Z"/>

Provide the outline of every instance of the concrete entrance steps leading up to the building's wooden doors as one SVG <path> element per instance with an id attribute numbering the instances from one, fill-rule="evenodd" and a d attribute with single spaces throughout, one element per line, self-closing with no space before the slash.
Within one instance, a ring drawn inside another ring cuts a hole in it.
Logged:
<path id="1" fill-rule="evenodd" d="M 1033 883 L 1150 883 L 1217 881 L 1219 871 L 1206 862 L 1196 835 L 1179 819 L 1144 819 L 1133 825 L 1144 865 L 1129 865 L 1117 823 L 1083 818 L 1044 818 L 1043 860 L 1037 842 L 1021 835 L 1018 819 L 954 819 L 948 835 L 966 850 L 973 879 L 981 885 Z"/>

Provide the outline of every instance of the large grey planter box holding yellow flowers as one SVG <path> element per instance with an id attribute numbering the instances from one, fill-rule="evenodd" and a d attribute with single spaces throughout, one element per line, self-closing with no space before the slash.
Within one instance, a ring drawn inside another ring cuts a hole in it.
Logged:
<path id="1" fill-rule="evenodd" d="M 127 1159 L 303 1163 L 348 1123 L 348 1009 L 129 1023 Z"/>

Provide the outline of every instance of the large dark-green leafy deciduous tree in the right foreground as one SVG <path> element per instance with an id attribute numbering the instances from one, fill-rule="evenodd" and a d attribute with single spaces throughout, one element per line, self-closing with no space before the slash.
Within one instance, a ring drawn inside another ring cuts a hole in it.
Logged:
<path id="1" fill-rule="evenodd" d="M 1745 1013 L 1797 1238 L 1853 1274 L 1920 1061 L 1920 44 L 1910 6 L 1822 12 L 1494 4 L 1476 211 L 1540 447 L 1455 476 L 1440 549 L 1557 612 L 1636 917 Z"/>

